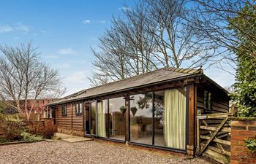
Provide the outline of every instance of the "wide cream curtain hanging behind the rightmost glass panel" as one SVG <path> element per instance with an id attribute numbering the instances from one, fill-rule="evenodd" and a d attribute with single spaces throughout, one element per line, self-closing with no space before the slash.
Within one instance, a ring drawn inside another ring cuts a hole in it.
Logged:
<path id="1" fill-rule="evenodd" d="M 176 89 L 165 90 L 164 138 L 167 147 L 186 147 L 186 96 Z"/>

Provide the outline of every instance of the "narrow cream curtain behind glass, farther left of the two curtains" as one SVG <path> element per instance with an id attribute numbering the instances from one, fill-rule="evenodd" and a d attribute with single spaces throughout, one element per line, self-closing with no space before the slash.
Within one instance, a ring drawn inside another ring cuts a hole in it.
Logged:
<path id="1" fill-rule="evenodd" d="M 98 136 L 106 137 L 106 124 L 103 101 L 98 103 Z"/>

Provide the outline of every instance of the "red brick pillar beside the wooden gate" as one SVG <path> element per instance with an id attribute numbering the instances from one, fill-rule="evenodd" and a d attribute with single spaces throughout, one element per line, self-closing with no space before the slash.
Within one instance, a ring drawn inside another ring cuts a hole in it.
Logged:
<path id="1" fill-rule="evenodd" d="M 255 120 L 231 121 L 231 156 L 230 163 L 256 163 L 256 153 L 249 152 L 244 146 L 244 139 L 254 138 L 256 135 Z"/>

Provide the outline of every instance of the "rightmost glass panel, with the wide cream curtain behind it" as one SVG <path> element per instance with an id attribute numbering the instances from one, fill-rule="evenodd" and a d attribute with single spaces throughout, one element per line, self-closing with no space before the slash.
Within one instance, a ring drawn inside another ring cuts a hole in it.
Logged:
<path id="1" fill-rule="evenodd" d="M 154 93 L 154 145 L 185 149 L 186 90 L 162 90 Z"/>

